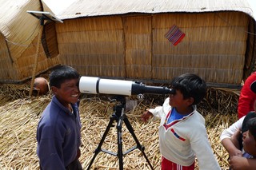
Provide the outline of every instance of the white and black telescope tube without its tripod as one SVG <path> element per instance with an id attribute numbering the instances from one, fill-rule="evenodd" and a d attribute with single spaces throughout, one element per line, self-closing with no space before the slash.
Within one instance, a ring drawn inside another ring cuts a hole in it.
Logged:
<path id="1" fill-rule="evenodd" d="M 145 85 L 138 81 L 103 79 L 100 77 L 81 77 L 79 91 L 80 93 L 104 93 L 126 96 L 142 93 L 175 94 L 174 89 L 168 89 L 166 87 Z"/>

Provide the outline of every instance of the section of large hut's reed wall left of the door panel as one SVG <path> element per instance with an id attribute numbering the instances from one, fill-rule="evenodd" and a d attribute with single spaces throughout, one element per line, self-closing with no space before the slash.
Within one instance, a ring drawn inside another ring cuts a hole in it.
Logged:
<path id="1" fill-rule="evenodd" d="M 77 18 L 56 30 L 62 64 L 88 76 L 126 77 L 122 18 Z"/>

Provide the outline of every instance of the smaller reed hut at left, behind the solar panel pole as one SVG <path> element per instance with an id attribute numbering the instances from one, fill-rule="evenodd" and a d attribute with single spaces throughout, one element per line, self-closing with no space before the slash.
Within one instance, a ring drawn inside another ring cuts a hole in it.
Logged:
<path id="1" fill-rule="evenodd" d="M 31 77 L 34 68 L 40 30 L 38 19 L 26 10 L 41 11 L 42 4 L 31 0 L 1 1 L 0 9 L 0 82 L 24 81 Z M 47 57 L 43 44 L 40 45 L 37 73 L 59 64 L 58 58 Z"/>

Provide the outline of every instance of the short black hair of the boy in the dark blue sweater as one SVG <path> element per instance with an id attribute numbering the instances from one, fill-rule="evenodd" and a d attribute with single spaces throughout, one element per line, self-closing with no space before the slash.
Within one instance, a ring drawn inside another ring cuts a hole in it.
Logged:
<path id="1" fill-rule="evenodd" d="M 80 75 L 77 70 L 68 65 L 60 65 L 50 73 L 49 85 L 60 88 L 64 81 L 78 78 Z"/>

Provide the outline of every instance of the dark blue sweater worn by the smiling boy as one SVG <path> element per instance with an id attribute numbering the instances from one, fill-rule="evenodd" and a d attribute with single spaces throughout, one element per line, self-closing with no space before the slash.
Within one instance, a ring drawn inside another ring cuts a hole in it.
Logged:
<path id="1" fill-rule="evenodd" d="M 42 169 L 65 169 L 76 159 L 81 144 L 81 122 L 78 103 L 72 105 L 73 113 L 56 97 L 42 113 L 38 123 L 37 154 Z"/>

